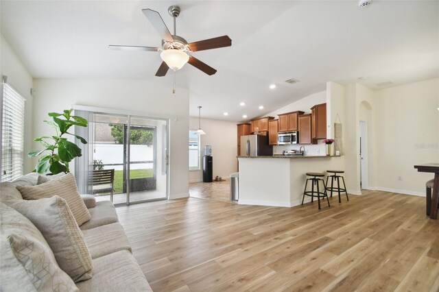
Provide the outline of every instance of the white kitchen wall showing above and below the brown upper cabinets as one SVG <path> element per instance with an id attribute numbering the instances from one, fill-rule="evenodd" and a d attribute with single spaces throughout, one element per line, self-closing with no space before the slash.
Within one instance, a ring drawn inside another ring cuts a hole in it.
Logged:
<path id="1" fill-rule="evenodd" d="M 278 114 L 285 114 L 285 112 L 295 112 L 296 110 L 301 110 L 305 112 L 305 114 L 311 113 L 311 108 L 316 106 L 316 104 L 324 104 L 327 102 L 327 92 L 322 91 L 320 93 L 314 93 L 312 95 L 308 95 L 307 97 L 303 97 L 298 101 L 294 101 L 293 103 L 284 106 L 283 108 L 279 108 L 278 110 L 274 110 L 274 112 L 270 112 L 267 114 L 268 117 L 274 117 L 278 119 Z M 299 149 L 300 144 L 297 145 L 278 145 L 273 147 L 273 154 L 282 154 L 284 150 L 290 149 Z M 325 155 L 326 149 L 323 143 L 318 143 L 316 145 L 304 144 L 305 151 L 309 155 Z"/>

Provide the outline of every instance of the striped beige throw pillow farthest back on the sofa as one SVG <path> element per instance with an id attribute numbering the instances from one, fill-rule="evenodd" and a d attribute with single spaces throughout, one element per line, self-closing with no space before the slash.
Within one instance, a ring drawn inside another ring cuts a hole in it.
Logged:
<path id="1" fill-rule="evenodd" d="M 38 186 L 17 186 L 23 199 L 43 199 L 58 195 L 67 201 L 78 225 L 91 219 L 90 213 L 76 187 L 75 177 L 67 173 L 58 180 L 51 180 Z"/>

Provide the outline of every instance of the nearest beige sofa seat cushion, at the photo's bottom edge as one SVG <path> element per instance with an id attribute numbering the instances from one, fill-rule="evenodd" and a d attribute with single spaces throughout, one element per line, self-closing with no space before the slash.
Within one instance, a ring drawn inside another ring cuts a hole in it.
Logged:
<path id="1" fill-rule="evenodd" d="M 93 266 L 93 278 L 76 283 L 81 292 L 152 291 L 139 264 L 128 250 L 95 258 Z"/>

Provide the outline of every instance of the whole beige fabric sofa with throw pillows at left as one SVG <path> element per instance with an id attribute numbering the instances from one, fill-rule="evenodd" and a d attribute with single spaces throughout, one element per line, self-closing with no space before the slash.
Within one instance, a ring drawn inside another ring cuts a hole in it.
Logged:
<path id="1" fill-rule="evenodd" d="M 78 224 L 70 198 L 44 193 L 45 184 L 55 184 L 65 176 L 48 181 L 48 177 L 29 173 L 0 184 L 0 290 L 152 291 L 111 202 L 78 194 L 80 205 L 86 208 L 81 211 L 85 222 Z M 76 187 L 65 182 L 62 186 L 57 191 L 60 195 Z M 47 196 L 23 199 L 34 188 Z"/>

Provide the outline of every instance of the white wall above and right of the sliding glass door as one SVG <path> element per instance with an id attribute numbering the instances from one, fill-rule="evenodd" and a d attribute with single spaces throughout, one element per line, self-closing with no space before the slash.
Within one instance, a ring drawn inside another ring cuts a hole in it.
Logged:
<path id="1" fill-rule="evenodd" d="M 140 113 L 145 117 L 169 117 L 169 197 L 189 195 L 189 92 L 158 86 L 154 80 L 64 80 L 36 79 L 34 87 L 34 135 L 50 134 L 43 123 L 47 112 L 59 112 L 72 105 L 112 108 Z M 174 119 L 175 118 L 175 119 Z M 33 147 L 37 147 L 34 143 Z"/>

